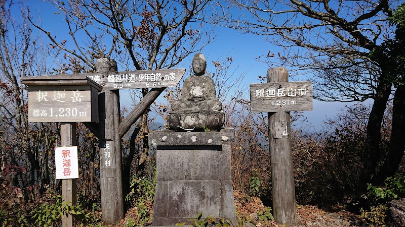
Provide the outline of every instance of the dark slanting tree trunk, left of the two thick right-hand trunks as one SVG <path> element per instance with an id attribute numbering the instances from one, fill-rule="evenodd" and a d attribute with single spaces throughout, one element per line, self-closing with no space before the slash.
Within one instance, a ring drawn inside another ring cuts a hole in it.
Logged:
<path id="1" fill-rule="evenodd" d="M 363 168 L 357 186 L 358 195 L 361 195 L 367 190 L 367 183 L 371 183 L 371 179 L 376 173 L 377 164 L 381 159 L 381 123 L 384 118 L 384 112 L 389 95 L 391 94 L 392 86 L 392 83 L 387 81 L 385 77 L 387 76 L 382 73 L 380 77 L 382 79 L 380 79 L 376 88 L 376 95 L 367 124 L 366 147 L 362 157 Z"/>

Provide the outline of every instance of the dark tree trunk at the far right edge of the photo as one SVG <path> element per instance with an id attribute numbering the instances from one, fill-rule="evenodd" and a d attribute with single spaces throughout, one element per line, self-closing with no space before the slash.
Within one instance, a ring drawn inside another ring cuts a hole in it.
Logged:
<path id="1" fill-rule="evenodd" d="M 398 169 L 405 149 L 405 86 L 399 85 L 392 103 L 392 129 L 390 149 L 380 170 L 376 183 L 391 177 Z"/>

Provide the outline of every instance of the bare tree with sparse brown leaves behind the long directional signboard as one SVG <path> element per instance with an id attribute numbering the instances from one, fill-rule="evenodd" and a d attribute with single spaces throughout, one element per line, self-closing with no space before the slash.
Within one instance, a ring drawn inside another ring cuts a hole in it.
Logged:
<path id="1" fill-rule="evenodd" d="M 189 54 L 201 50 L 214 38 L 202 28 L 204 10 L 212 1 L 52 1 L 64 15 L 69 37 L 56 37 L 55 31 L 30 19 L 43 31 L 52 46 L 62 50 L 64 58 L 83 66 L 67 68 L 74 73 L 94 71 L 97 58 L 123 60 L 122 68 L 135 70 L 167 69 L 177 66 Z M 85 40 L 85 41 L 83 41 Z M 130 65 L 126 65 L 130 64 Z M 131 67 L 132 66 L 132 67 Z M 60 70 L 63 72 L 65 69 Z M 153 93 L 158 96 L 163 89 Z M 145 96 L 148 89 L 142 89 Z M 136 107 L 135 107 L 136 108 Z M 143 148 L 136 154 L 130 149 L 124 165 L 125 183 L 129 182 L 131 163 L 137 155 L 143 166 L 148 152 L 144 134 L 148 133 L 147 112 L 136 125 L 130 144 L 138 133 L 144 138 Z"/>

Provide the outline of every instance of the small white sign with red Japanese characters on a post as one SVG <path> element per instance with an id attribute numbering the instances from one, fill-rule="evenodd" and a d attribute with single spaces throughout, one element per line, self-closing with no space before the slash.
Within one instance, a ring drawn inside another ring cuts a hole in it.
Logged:
<path id="1" fill-rule="evenodd" d="M 55 147 L 56 179 L 79 178 L 77 146 Z"/>

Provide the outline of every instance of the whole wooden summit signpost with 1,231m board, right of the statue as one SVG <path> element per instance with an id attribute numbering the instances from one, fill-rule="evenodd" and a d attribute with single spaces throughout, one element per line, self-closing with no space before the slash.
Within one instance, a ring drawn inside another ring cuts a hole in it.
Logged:
<path id="1" fill-rule="evenodd" d="M 279 223 L 297 222 L 289 111 L 312 110 L 312 82 L 287 82 L 286 68 L 267 71 L 267 83 L 251 84 L 252 112 L 268 112 L 273 216 Z"/>

